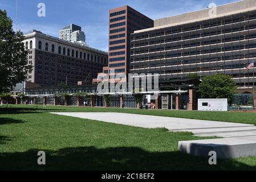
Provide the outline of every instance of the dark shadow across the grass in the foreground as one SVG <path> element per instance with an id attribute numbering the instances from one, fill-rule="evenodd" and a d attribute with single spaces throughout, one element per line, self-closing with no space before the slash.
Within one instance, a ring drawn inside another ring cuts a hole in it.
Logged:
<path id="1" fill-rule="evenodd" d="M 46 152 L 46 165 L 37 164 L 37 150 L 0 153 L 1 170 L 249 170 L 256 169 L 235 160 L 217 160 L 178 151 L 149 152 L 138 147 L 76 147 Z"/>

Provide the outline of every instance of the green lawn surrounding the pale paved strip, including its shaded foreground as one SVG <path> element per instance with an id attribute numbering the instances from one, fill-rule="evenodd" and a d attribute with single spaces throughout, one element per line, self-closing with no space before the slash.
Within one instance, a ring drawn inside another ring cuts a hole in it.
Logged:
<path id="1" fill-rule="evenodd" d="M 0 109 L 0 169 L 256 169 L 256 157 L 217 160 L 178 152 L 180 140 L 203 139 L 191 133 L 143 129 L 91 121 L 49 111 L 119 111 L 218 121 L 256 123 L 254 113 L 134 110 L 11 105 Z M 37 164 L 38 151 L 46 152 L 46 165 Z"/>

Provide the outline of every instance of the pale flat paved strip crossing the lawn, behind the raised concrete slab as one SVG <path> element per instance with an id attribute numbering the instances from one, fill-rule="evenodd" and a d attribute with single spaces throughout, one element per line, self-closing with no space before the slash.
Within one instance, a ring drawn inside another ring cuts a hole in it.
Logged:
<path id="1" fill-rule="evenodd" d="M 54 113 L 78 118 L 99 120 L 122 125 L 157 128 L 165 127 L 170 131 L 189 131 L 198 136 L 240 137 L 256 136 L 256 126 L 242 123 L 206 121 L 200 119 L 185 119 L 161 117 L 154 115 L 128 113 Z"/>

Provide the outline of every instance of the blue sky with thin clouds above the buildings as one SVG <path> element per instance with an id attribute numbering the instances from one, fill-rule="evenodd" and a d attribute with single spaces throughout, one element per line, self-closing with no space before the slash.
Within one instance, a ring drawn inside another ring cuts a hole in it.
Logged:
<path id="1" fill-rule="evenodd" d="M 108 51 L 108 11 L 128 5 L 155 20 L 205 9 L 209 3 L 224 5 L 235 0 L 18 0 L 18 30 L 39 30 L 58 37 L 70 23 L 82 27 L 90 47 Z M 38 3 L 46 5 L 46 16 L 38 16 Z M 0 0 L 16 30 L 16 0 Z"/>

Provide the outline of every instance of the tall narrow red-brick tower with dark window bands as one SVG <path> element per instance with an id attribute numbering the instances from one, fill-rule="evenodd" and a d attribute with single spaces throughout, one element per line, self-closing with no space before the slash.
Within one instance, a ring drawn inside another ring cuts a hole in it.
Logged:
<path id="1" fill-rule="evenodd" d="M 153 27 L 153 20 L 129 6 L 109 10 L 109 59 L 103 72 L 113 75 L 129 72 L 130 35 L 135 30 Z M 119 80 L 119 79 L 118 79 Z M 94 82 L 99 82 L 97 78 Z"/>

